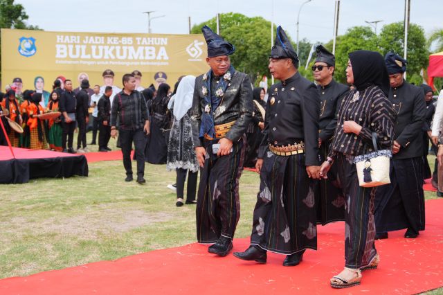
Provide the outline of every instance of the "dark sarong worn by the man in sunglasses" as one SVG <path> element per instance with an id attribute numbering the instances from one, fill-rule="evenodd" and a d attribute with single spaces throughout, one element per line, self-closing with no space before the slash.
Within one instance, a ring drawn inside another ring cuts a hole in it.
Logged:
<path id="1" fill-rule="evenodd" d="M 329 152 L 329 145 L 320 146 L 320 163 L 323 163 Z M 332 165 L 327 172 L 327 179 L 316 181 L 316 214 L 318 224 L 345 220 L 345 197 L 341 186 L 343 181 L 338 177 L 337 165 Z"/>

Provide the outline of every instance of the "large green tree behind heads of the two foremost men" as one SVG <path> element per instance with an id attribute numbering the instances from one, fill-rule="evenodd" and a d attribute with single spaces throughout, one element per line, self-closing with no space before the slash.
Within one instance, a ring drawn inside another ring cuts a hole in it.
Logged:
<path id="1" fill-rule="evenodd" d="M 191 33 L 200 34 L 201 27 L 217 28 L 215 17 L 192 27 Z M 271 53 L 271 22 L 262 17 L 246 17 L 239 13 L 224 13 L 219 16 L 219 35 L 234 44 L 236 51 L 230 57 L 233 66 L 247 73 L 254 83 L 257 77 L 269 76 L 269 53 Z M 274 28 L 274 36 L 276 34 Z M 296 48 L 296 44 L 293 48 Z M 300 56 L 309 54 L 311 45 L 305 39 L 300 42 Z M 257 83 L 260 81 L 256 81 Z M 255 84 L 257 84 L 255 83 Z"/>

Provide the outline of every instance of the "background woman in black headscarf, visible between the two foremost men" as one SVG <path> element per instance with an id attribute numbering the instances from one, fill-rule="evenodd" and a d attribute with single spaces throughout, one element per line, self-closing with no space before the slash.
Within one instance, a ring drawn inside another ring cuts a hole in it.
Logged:
<path id="1" fill-rule="evenodd" d="M 264 110 L 266 104 L 264 102 L 264 88 L 256 87 L 252 91 L 253 107 L 251 123 L 246 129 L 246 152 L 244 159 L 244 167 L 255 168 L 257 162 L 258 147 L 262 141 L 262 130 L 264 129 Z"/>

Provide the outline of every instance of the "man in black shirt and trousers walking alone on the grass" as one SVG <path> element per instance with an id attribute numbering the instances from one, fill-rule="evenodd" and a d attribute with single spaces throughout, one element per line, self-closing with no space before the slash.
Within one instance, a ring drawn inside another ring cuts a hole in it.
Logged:
<path id="1" fill-rule="evenodd" d="M 114 96 L 111 109 L 111 136 L 117 136 L 117 116 L 120 126 L 120 145 L 123 153 L 123 166 L 126 170 L 125 181 L 132 181 L 131 149 L 134 141 L 137 157 L 137 182 L 144 184 L 145 175 L 145 134 L 150 133 L 150 117 L 145 98 L 135 91 L 136 78 L 132 74 L 123 75 L 123 91 Z"/>

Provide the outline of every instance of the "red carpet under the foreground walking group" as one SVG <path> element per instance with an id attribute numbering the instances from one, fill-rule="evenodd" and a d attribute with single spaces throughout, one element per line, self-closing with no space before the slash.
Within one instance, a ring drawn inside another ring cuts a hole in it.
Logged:
<path id="1" fill-rule="evenodd" d="M 0 294 L 415 294 L 443 286 L 443 200 L 426 202 L 426 231 L 404 231 L 377 241 L 379 269 L 363 273 L 362 285 L 345 291 L 329 287 L 343 266 L 343 222 L 318 227 L 318 251 L 307 251 L 297 267 L 269 253 L 266 265 L 229 255 L 215 257 L 207 246 L 190 244 L 116 261 L 0 280 Z M 235 239 L 234 251 L 248 246 Z"/>

